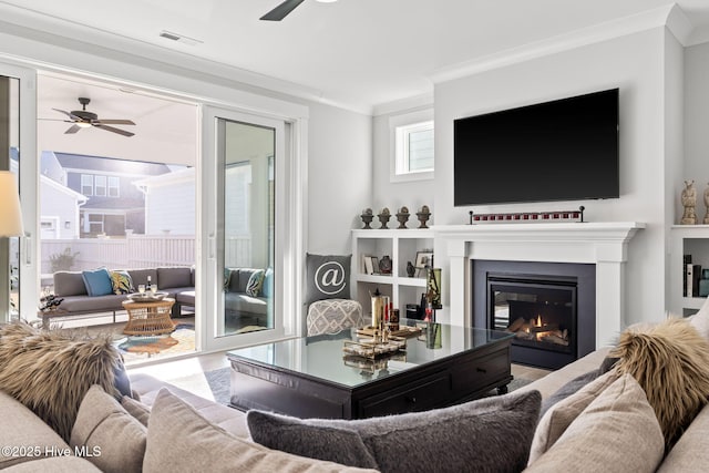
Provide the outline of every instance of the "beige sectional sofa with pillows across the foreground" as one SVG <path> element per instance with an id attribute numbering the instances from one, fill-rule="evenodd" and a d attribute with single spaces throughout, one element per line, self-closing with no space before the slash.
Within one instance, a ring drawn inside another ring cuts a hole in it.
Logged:
<path id="1" fill-rule="evenodd" d="M 616 347 L 600 348 L 510 394 L 359 421 L 244 413 L 129 372 L 134 395 L 114 398 L 91 388 L 81 401 L 71 440 L 65 441 L 32 410 L 0 392 L 0 445 L 4 448 L 0 469 L 146 473 L 705 471 L 709 464 L 705 448 L 709 435 L 709 309 L 690 320 L 668 320 L 657 328 L 626 332 Z M 634 352 L 634 346 L 654 348 Z M 35 352 L 30 357 L 37 357 Z M 4 376 L 7 381 L 3 363 L 0 350 L 0 380 Z M 670 376 L 672 370 L 675 376 Z M 686 395 L 692 391 L 693 395 Z M 693 403 L 692 412 L 685 409 L 688 402 Z M 666 409 L 671 415 L 666 415 Z M 253 422 L 258 418 L 275 425 L 266 436 Z M 685 424 L 676 425 L 677 436 L 668 435 L 668 422 L 678 420 Z M 384 424 L 387 428 L 381 426 Z M 392 430 L 392 425 L 397 428 Z M 407 432 L 411 425 L 413 432 Z M 431 431 L 438 435 L 431 436 Z M 410 442 L 411 435 L 415 442 Z M 288 449 L 264 443 L 264 439 L 280 442 L 288 436 L 297 439 Z M 382 443 L 392 438 L 393 442 Z M 310 449 L 312 454 L 291 451 L 308 450 L 314 439 L 319 441 L 317 449 Z M 371 455 L 350 454 L 358 449 Z M 322 459 L 327 451 L 340 457 L 350 454 L 351 462 L 369 461 L 376 466 L 333 463 Z M 512 451 L 523 454 L 514 459 L 513 466 L 503 466 Z M 420 469 L 412 466 L 412 459 Z M 451 463 L 458 466 L 450 467 Z M 443 470 L 443 465 L 449 466 Z"/>

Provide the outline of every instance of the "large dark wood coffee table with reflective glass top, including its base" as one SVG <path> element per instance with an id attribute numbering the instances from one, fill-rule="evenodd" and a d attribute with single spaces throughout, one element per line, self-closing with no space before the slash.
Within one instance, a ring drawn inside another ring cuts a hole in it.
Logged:
<path id="1" fill-rule="evenodd" d="M 356 331 L 227 352 L 230 405 L 299 418 L 363 419 L 423 411 L 507 392 L 511 333 L 438 325 L 405 352 L 373 361 L 343 353 Z"/>

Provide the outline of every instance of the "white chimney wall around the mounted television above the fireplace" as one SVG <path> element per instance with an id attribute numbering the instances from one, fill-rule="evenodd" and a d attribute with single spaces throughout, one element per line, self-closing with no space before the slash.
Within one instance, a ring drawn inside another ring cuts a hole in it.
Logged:
<path id="1" fill-rule="evenodd" d="M 666 124 L 677 115 L 677 109 L 668 107 L 666 101 L 681 97 L 681 80 L 677 74 L 665 74 L 668 63 L 676 66 L 681 61 L 677 58 L 681 56 L 681 48 L 669 34 L 664 28 L 656 28 L 438 83 L 432 206 L 435 223 L 465 224 L 471 209 L 538 212 L 574 209 L 579 205 L 586 207 L 588 220 L 644 222 L 647 228 L 636 235 L 628 251 L 624 323 L 660 320 L 666 307 L 666 160 L 676 157 L 667 154 L 676 152 L 681 143 L 681 127 Z M 453 207 L 455 119 L 612 88 L 620 89 L 620 198 Z M 380 160 L 379 154 L 376 160 Z M 398 189 L 391 191 L 381 198 L 397 198 Z M 435 250 L 442 254 L 445 248 L 438 245 Z M 442 258 L 436 260 L 443 263 Z"/>

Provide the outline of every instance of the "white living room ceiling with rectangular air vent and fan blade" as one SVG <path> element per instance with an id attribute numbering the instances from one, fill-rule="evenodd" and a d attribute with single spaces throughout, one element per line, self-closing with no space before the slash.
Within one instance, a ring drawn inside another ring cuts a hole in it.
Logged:
<path id="1" fill-rule="evenodd" d="M 280 1 L 0 0 L 0 18 L 106 44 L 138 40 L 156 51 L 168 49 L 263 74 L 265 84 L 276 78 L 325 102 L 371 111 L 378 104 L 430 94 L 432 78 L 440 71 L 671 4 L 668 0 L 306 0 L 281 22 L 259 21 Z M 676 3 L 691 23 L 686 43 L 709 41 L 709 0 Z M 158 35 L 163 30 L 198 42 L 163 39 Z M 75 101 L 75 95 L 65 100 Z"/>

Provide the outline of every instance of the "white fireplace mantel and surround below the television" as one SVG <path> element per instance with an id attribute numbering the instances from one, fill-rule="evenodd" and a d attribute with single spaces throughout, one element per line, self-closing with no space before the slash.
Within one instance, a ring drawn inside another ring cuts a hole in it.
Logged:
<path id="1" fill-rule="evenodd" d="M 596 265 L 596 347 L 621 330 L 627 244 L 638 222 L 436 225 L 436 251 L 449 263 L 451 323 L 472 323 L 471 259 Z M 441 258 L 436 258 L 441 263 Z"/>

